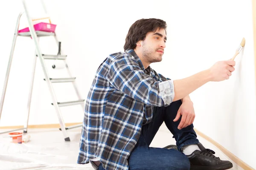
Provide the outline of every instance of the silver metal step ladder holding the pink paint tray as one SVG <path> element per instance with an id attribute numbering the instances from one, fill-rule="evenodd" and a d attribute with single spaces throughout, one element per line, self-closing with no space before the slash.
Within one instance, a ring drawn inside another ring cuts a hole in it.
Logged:
<path id="1" fill-rule="evenodd" d="M 46 7 L 44 6 L 43 1 L 41 1 L 41 2 L 42 2 L 42 5 L 44 7 L 45 13 L 47 13 L 47 10 L 46 10 Z M 19 24 L 20 24 L 20 17 L 23 14 L 23 12 L 21 12 L 19 14 L 18 18 L 17 18 L 15 34 L 14 34 L 13 41 L 12 41 L 11 53 L 10 53 L 8 67 L 7 67 L 7 71 L 6 71 L 6 78 L 5 78 L 4 86 L 3 86 L 3 93 L 2 93 L 1 102 L 0 102 L 0 119 L 1 119 L 1 113 L 2 113 L 2 109 L 3 109 L 3 102 L 4 102 L 4 98 L 5 98 L 5 94 L 6 94 L 6 88 L 7 88 L 7 84 L 8 84 L 9 73 L 10 73 L 10 69 L 11 69 L 11 65 L 12 65 L 12 58 L 13 58 L 13 53 L 14 53 L 14 49 L 15 49 L 15 43 L 16 43 L 17 36 L 32 37 L 32 40 L 35 43 L 35 57 L 34 57 L 34 61 L 33 61 L 33 70 L 32 70 L 32 77 L 31 77 L 28 104 L 27 104 L 27 112 L 26 112 L 26 114 L 27 114 L 26 118 L 27 119 L 26 119 L 26 122 L 25 122 L 23 128 L 15 129 L 15 130 L 9 130 L 9 131 L 5 131 L 5 132 L 1 132 L 1 133 L 7 133 L 7 132 L 16 131 L 16 130 L 23 130 L 24 133 L 27 133 L 29 112 L 30 112 L 30 104 L 31 104 L 31 97 L 32 97 L 32 89 L 33 89 L 33 82 L 34 82 L 34 76 L 35 76 L 35 66 L 36 66 L 37 58 L 39 58 L 39 60 L 41 62 L 41 66 L 43 68 L 44 76 L 45 76 L 44 80 L 46 81 L 46 83 L 48 85 L 48 88 L 49 88 L 49 91 L 50 91 L 50 94 L 51 94 L 51 97 L 52 97 L 52 105 L 55 108 L 55 111 L 56 111 L 57 116 L 58 116 L 58 121 L 60 123 L 61 128 L 59 128 L 59 130 L 62 131 L 62 133 L 64 135 L 64 140 L 65 141 L 70 141 L 70 138 L 69 138 L 66 130 L 72 129 L 72 128 L 75 128 L 75 127 L 80 127 L 80 126 L 82 126 L 82 124 L 74 125 L 74 126 L 70 126 L 70 127 L 65 127 L 64 120 L 61 116 L 60 107 L 70 106 L 70 105 L 81 105 L 82 111 L 84 111 L 84 99 L 81 99 L 81 94 L 80 94 L 80 92 L 77 88 L 76 82 L 75 82 L 76 78 L 72 77 L 72 75 L 70 73 L 70 70 L 68 68 L 67 61 L 66 61 L 67 56 L 66 55 L 61 55 L 60 43 L 58 42 L 58 39 L 57 39 L 57 36 L 56 36 L 55 32 L 35 31 L 35 28 L 32 25 L 32 20 L 30 18 L 29 11 L 27 9 L 27 5 L 26 5 L 25 0 L 23 0 L 22 3 L 23 3 L 24 10 L 25 10 L 26 18 L 27 18 L 28 24 L 29 24 L 29 32 L 20 32 L 20 33 L 18 32 L 18 28 L 19 28 Z M 54 36 L 57 44 L 59 43 L 59 52 L 58 52 L 57 55 L 47 55 L 47 54 L 42 54 L 41 53 L 41 48 L 39 47 L 39 38 L 40 37 L 45 37 L 45 36 Z M 70 77 L 68 77 L 68 78 L 50 78 L 49 74 L 47 72 L 47 68 L 46 68 L 44 59 L 58 59 L 58 60 L 60 59 L 60 60 L 62 60 L 65 64 L 65 68 L 67 69 L 67 72 L 68 72 Z M 72 82 L 73 83 L 73 87 L 76 91 L 76 95 L 78 96 L 78 100 L 70 101 L 70 102 L 57 102 L 55 92 L 54 92 L 53 87 L 52 87 L 52 83 L 63 83 L 63 82 Z"/>

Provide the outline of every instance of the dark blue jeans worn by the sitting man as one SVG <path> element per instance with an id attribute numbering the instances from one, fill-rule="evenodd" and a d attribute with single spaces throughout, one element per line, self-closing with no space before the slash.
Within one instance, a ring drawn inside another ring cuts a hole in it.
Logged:
<path id="1" fill-rule="evenodd" d="M 181 100 L 178 100 L 167 107 L 154 107 L 152 121 L 143 125 L 140 138 L 128 158 L 130 170 L 190 169 L 189 159 L 182 153 L 182 147 L 188 144 L 197 144 L 199 141 L 196 138 L 193 124 L 178 130 L 181 117 L 177 122 L 173 122 L 181 104 Z M 163 122 L 173 134 L 178 150 L 149 147 Z M 99 165 L 99 170 L 104 170 L 102 164 Z"/>

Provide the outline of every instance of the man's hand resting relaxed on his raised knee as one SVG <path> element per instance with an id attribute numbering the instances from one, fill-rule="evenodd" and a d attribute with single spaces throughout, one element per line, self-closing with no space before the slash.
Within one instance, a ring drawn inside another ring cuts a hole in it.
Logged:
<path id="1" fill-rule="evenodd" d="M 195 119 L 195 111 L 193 107 L 193 102 L 191 100 L 183 100 L 180 108 L 177 112 L 177 116 L 173 120 L 176 122 L 180 119 L 180 115 L 182 115 L 180 124 L 178 125 L 178 129 L 182 129 L 191 125 Z"/>

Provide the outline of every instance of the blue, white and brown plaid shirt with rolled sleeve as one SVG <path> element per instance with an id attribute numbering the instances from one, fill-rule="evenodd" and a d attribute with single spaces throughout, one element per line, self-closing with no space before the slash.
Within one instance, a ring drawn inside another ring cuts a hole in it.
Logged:
<path id="1" fill-rule="evenodd" d="M 109 55 L 87 96 L 78 164 L 98 158 L 106 170 L 128 170 L 128 157 L 154 106 L 174 98 L 173 80 L 144 69 L 134 50 Z"/>

